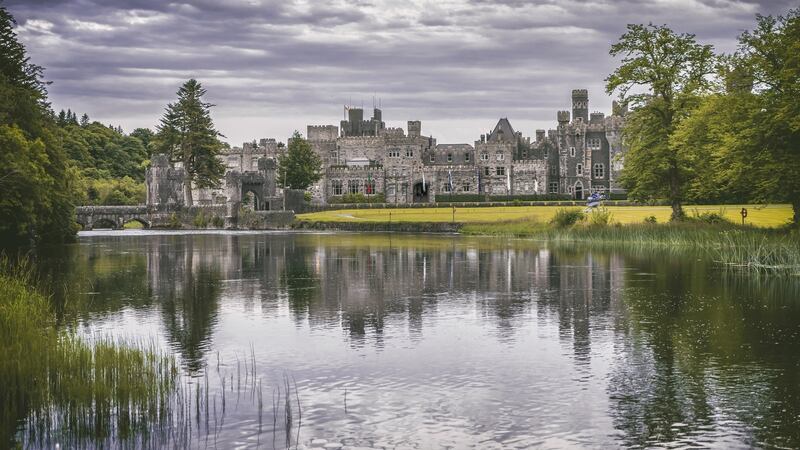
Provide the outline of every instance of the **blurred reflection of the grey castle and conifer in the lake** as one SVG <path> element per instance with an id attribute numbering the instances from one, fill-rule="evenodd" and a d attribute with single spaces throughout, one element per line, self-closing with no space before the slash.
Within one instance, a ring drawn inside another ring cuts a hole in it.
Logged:
<path id="1" fill-rule="evenodd" d="M 507 338 L 520 315 L 535 314 L 558 321 L 581 361 L 590 354 L 590 319 L 607 316 L 621 283 L 618 257 L 463 238 L 167 235 L 146 242 L 149 284 L 173 345 L 198 363 L 221 297 L 268 315 L 288 308 L 297 322 L 341 327 L 378 345 L 388 322 L 421 335 L 426 313 L 441 302 L 475 308 Z"/>

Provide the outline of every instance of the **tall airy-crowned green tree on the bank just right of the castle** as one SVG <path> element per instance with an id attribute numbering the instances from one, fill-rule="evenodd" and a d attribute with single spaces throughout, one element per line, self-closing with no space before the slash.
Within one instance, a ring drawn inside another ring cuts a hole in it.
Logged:
<path id="1" fill-rule="evenodd" d="M 712 47 L 663 25 L 628 25 L 609 53 L 622 56 L 622 63 L 606 78 L 606 91 L 618 91 L 633 108 L 622 136 L 628 150 L 620 181 L 632 198 L 666 197 L 672 220 L 679 220 L 692 172 L 686 155 L 670 141 L 710 88 L 716 62 Z"/>

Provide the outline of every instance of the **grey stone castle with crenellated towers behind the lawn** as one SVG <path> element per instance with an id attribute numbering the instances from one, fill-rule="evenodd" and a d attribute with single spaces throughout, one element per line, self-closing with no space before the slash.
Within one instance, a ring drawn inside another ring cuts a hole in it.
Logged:
<path id="1" fill-rule="evenodd" d="M 391 204 L 440 200 L 560 196 L 584 199 L 593 192 L 623 194 L 618 183 L 624 149 L 624 113 L 589 113 L 585 89 L 572 91 L 572 112 L 558 111 L 555 129 L 533 138 L 514 130 L 507 118 L 470 144 L 439 144 L 422 134 L 420 121 L 407 130 L 387 128 L 382 111 L 370 119 L 361 108 L 347 110 L 336 125 L 309 125 L 307 139 L 323 161 L 323 177 L 311 189 L 317 203 L 338 202 L 347 194 L 383 196 Z M 285 147 L 274 139 L 226 150 L 228 169 L 255 170 L 258 159 L 278 158 Z M 219 193 L 198 191 L 201 203 Z M 352 197 L 351 197 L 352 198 Z M 219 200 L 222 200 L 221 198 Z"/>

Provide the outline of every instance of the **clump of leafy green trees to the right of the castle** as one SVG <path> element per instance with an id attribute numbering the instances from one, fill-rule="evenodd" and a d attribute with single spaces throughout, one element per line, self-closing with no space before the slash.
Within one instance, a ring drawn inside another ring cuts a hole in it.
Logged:
<path id="1" fill-rule="evenodd" d="M 785 202 L 800 224 L 800 10 L 757 16 L 738 49 L 716 54 L 693 34 L 629 25 L 606 78 L 626 116 L 622 185 L 635 200 Z"/>

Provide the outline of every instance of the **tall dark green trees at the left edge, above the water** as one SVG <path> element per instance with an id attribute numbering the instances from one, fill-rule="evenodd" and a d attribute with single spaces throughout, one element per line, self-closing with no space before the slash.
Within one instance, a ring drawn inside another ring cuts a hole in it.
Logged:
<path id="1" fill-rule="evenodd" d="M 42 68 L 0 6 L 0 247 L 73 239 L 75 171 L 58 139 Z"/>

